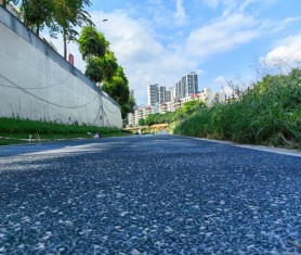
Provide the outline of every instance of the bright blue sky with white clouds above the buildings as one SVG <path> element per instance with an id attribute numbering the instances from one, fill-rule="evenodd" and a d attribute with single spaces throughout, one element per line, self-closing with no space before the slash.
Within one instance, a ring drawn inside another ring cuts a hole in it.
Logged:
<path id="1" fill-rule="evenodd" d="M 87 10 L 109 41 L 139 105 L 147 104 L 148 85 L 175 87 L 189 72 L 198 74 L 200 91 L 218 92 L 230 82 L 248 86 L 301 62 L 300 0 L 91 2 Z M 51 41 L 62 53 L 62 39 Z M 69 43 L 68 51 L 84 72 L 78 46 Z"/>

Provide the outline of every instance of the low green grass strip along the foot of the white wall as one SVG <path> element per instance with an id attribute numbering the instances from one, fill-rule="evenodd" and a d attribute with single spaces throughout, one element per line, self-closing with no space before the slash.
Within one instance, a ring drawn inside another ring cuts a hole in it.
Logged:
<path id="1" fill-rule="evenodd" d="M 31 139 L 39 141 L 53 141 L 61 139 L 73 140 L 77 138 L 89 139 L 96 132 L 100 132 L 103 138 L 131 135 L 118 128 L 0 118 L 0 145 L 28 143 L 29 136 Z"/>

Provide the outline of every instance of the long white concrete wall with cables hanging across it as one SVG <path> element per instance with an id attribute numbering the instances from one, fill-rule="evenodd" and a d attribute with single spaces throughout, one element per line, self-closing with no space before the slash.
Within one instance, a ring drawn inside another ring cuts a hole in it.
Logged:
<path id="1" fill-rule="evenodd" d="M 0 116 L 122 126 L 112 98 L 1 7 Z"/>

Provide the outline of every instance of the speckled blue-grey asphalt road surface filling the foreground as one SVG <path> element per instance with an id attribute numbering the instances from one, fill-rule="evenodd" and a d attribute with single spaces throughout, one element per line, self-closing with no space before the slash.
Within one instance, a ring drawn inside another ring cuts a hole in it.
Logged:
<path id="1" fill-rule="evenodd" d="M 301 157 L 178 136 L 0 148 L 0 254 L 300 254 Z"/>

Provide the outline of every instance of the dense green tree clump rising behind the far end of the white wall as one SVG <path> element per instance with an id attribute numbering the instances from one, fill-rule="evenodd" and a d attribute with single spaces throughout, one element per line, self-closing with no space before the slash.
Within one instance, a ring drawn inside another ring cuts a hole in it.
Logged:
<path id="1" fill-rule="evenodd" d="M 109 43 L 102 33 L 86 26 L 78 39 L 79 50 L 87 63 L 86 75 L 94 82 L 103 84 L 101 89 L 110 95 L 121 109 L 122 119 L 133 112 L 134 99 L 130 97 L 129 80 L 118 65 Z"/>

